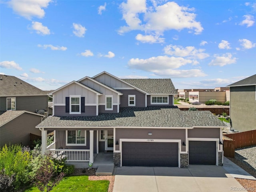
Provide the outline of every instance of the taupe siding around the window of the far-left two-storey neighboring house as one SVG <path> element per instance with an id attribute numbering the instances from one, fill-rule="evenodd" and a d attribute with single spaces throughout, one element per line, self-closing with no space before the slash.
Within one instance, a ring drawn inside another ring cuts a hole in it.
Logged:
<path id="1" fill-rule="evenodd" d="M 48 110 L 48 96 L 13 96 L 16 98 L 16 110 L 35 112 Z M 0 110 L 6 111 L 6 97 L 0 97 Z"/>

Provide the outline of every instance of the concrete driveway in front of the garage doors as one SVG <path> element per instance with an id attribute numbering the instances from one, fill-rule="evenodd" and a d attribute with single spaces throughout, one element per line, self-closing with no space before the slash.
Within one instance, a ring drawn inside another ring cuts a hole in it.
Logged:
<path id="1" fill-rule="evenodd" d="M 113 192 L 246 191 L 222 166 L 118 167 Z"/>

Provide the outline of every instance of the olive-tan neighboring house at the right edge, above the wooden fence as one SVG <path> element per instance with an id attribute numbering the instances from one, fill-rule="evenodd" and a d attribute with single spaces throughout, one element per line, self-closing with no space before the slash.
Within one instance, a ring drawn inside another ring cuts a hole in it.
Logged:
<path id="1" fill-rule="evenodd" d="M 228 85 L 230 88 L 230 119 L 238 131 L 256 129 L 256 74 Z"/>

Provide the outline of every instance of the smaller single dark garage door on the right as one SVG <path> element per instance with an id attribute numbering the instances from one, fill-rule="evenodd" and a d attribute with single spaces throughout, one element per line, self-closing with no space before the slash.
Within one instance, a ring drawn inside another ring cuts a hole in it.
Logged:
<path id="1" fill-rule="evenodd" d="M 216 142 L 215 141 L 189 141 L 189 164 L 215 165 Z"/>

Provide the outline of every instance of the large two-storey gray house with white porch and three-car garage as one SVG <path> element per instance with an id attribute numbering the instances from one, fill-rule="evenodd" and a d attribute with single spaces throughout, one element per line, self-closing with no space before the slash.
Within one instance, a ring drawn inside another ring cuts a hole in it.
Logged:
<path id="1" fill-rule="evenodd" d="M 49 94 L 53 116 L 36 126 L 43 154 L 93 163 L 94 154 L 112 151 L 115 166 L 222 165 L 219 142 L 226 125 L 209 111 L 180 111 L 170 79 L 120 79 L 102 72 Z M 46 146 L 51 130 L 54 143 Z"/>

